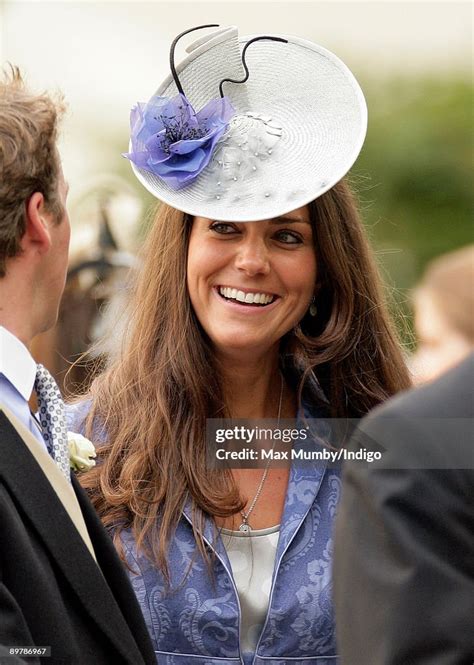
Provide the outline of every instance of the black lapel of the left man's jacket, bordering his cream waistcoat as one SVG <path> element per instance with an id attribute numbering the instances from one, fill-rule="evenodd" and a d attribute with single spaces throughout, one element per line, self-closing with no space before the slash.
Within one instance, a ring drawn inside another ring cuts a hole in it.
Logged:
<path id="1" fill-rule="evenodd" d="M 126 662 L 141 663 L 143 658 L 100 567 L 74 528 L 69 513 L 37 459 L 1 410 L 0 431 L 0 479 L 28 515 L 98 629 L 109 637 Z M 104 540 L 108 540 L 106 533 L 102 530 L 99 533 Z M 97 550 L 97 544 L 94 544 Z"/>

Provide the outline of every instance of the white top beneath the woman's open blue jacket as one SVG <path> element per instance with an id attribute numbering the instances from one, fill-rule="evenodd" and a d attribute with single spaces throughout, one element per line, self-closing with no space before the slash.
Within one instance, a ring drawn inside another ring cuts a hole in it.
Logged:
<path id="1" fill-rule="evenodd" d="M 241 650 L 254 652 L 268 611 L 280 525 L 248 533 L 222 529 L 221 534 L 242 611 Z"/>

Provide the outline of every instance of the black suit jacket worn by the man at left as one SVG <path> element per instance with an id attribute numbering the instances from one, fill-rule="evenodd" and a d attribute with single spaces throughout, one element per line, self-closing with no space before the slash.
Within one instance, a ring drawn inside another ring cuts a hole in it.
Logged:
<path id="1" fill-rule="evenodd" d="M 47 665 L 155 665 L 122 563 L 75 478 L 73 488 L 97 563 L 0 411 L 0 664 L 22 662 L 8 647 L 36 645 L 51 647 Z"/>

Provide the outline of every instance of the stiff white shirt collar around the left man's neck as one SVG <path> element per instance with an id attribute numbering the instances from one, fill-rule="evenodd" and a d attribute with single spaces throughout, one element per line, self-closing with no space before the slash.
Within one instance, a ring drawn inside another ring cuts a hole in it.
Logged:
<path id="1" fill-rule="evenodd" d="M 23 342 L 0 326 L 0 374 L 29 400 L 36 378 L 36 362 Z"/>

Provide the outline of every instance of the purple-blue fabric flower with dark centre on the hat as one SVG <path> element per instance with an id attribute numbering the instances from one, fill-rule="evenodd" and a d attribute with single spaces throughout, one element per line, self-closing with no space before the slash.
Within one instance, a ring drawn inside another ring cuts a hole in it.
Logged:
<path id="1" fill-rule="evenodd" d="M 211 99 L 198 113 L 183 94 L 152 97 L 130 113 L 132 150 L 123 156 L 180 189 L 209 164 L 234 113 L 228 97 Z"/>

